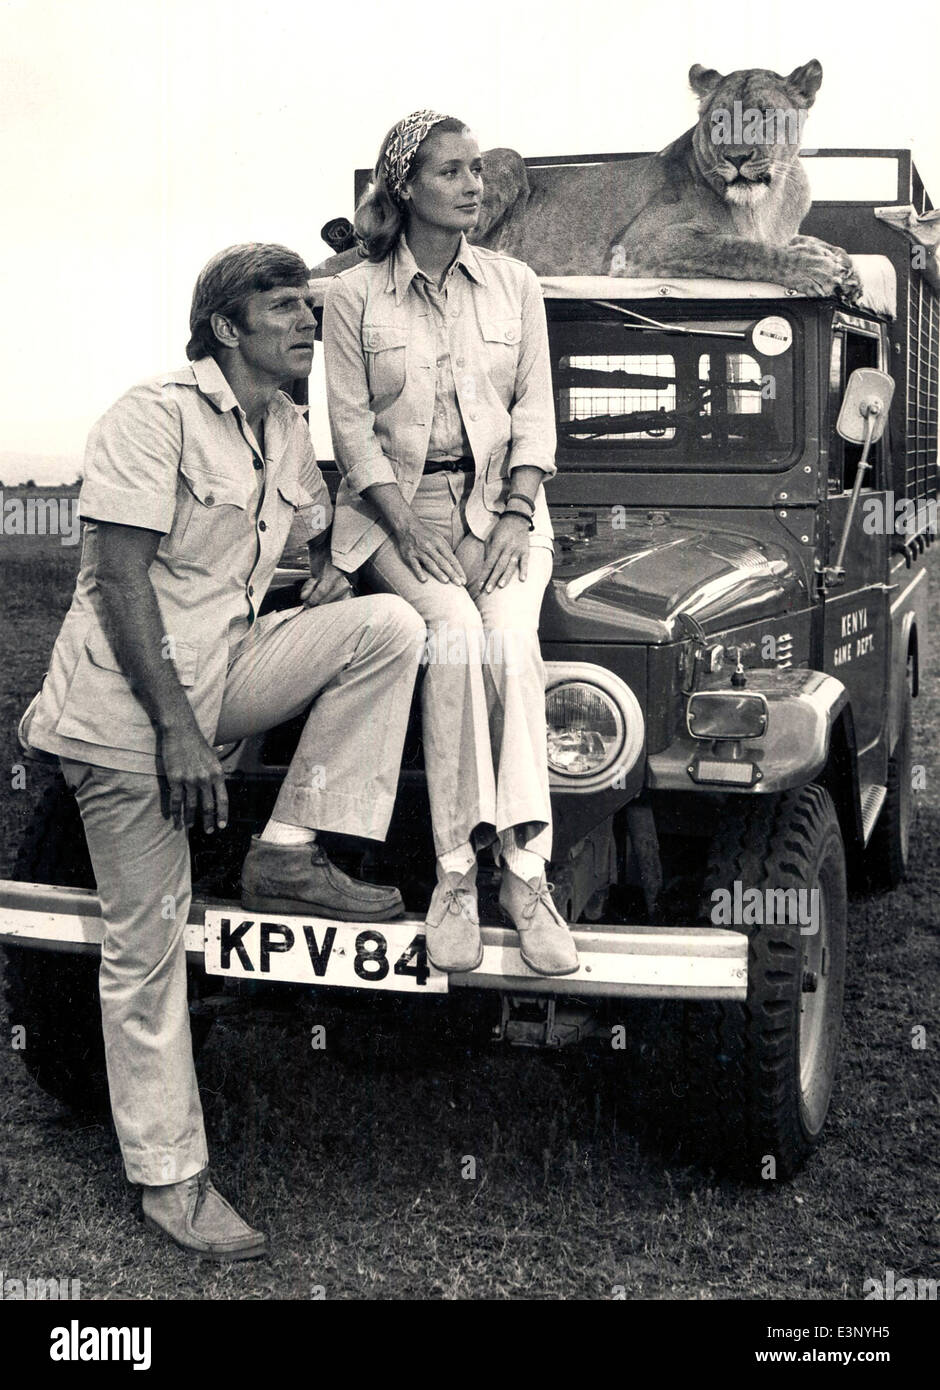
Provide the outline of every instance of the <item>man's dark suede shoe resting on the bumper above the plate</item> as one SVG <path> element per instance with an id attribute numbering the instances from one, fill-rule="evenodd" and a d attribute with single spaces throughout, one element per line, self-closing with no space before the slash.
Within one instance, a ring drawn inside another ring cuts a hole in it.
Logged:
<path id="1" fill-rule="evenodd" d="M 405 915 L 398 888 L 350 878 L 330 863 L 316 840 L 277 845 L 259 835 L 252 835 L 242 865 L 242 906 L 339 922 L 385 922 Z"/>

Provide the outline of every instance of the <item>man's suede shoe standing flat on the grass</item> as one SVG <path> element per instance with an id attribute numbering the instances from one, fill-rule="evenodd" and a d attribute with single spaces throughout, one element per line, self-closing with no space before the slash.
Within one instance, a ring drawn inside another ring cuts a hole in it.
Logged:
<path id="1" fill-rule="evenodd" d="M 257 1259 L 267 1236 L 252 1230 L 209 1180 L 209 1169 L 168 1187 L 143 1188 L 143 1219 L 204 1259 Z"/>

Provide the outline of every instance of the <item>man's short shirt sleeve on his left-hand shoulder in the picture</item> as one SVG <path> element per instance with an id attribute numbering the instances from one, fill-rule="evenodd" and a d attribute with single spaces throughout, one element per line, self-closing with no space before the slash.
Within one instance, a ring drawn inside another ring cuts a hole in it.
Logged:
<path id="1" fill-rule="evenodd" d="M 79 516 L 167 535 L 181 455 L 182 421 L 171 392 L 154 382 L 132 386 L 89 435 Z"/>

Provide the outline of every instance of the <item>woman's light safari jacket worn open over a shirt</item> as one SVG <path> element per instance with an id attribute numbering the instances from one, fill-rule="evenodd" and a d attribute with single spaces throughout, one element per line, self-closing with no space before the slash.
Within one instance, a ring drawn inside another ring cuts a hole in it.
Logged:
<path id="1" fill-rule="evenodd" d="M 384 261 L 362 261 L 337 275 L 324 297 L 330 428 L 342 474 L 332 559 L 346 573 L 388 535 L 364 489 L 398 482 L 410 502 L 428 456 L 442 343 L 419 275 L 402 239 Z M 446 285 L 446 349 L 476 464 L 466 520 L 485 541 L 506 503 L 510 468 L 533 466 L 545 477 L 556 471 L 545 306 L 528 265 L 470 246 L 464 236 Z M 542 488 L 534 525 L 531 543 L 551 548 Z"/>

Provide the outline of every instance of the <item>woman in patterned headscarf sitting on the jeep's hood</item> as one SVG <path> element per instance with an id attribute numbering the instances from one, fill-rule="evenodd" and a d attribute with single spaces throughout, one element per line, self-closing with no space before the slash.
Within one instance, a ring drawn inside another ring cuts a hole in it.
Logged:
<path id="1" fill-rule="evenodd" d="M 324 357 L 343 475 L 334 564 L 427 623 L 424 764 L 438 883 L 427 951 L 483 960 L 477 851 L 499 842 L 499 902 L 540 974 L 578 967 L 545 880 L 551 805 L 538 613 L 555 473 L 545 310 L 521 261 L 470 246 L 483 161 L 462 121 L 392 126 L 356 213 L 367 257 L 330 285 Z"/>

